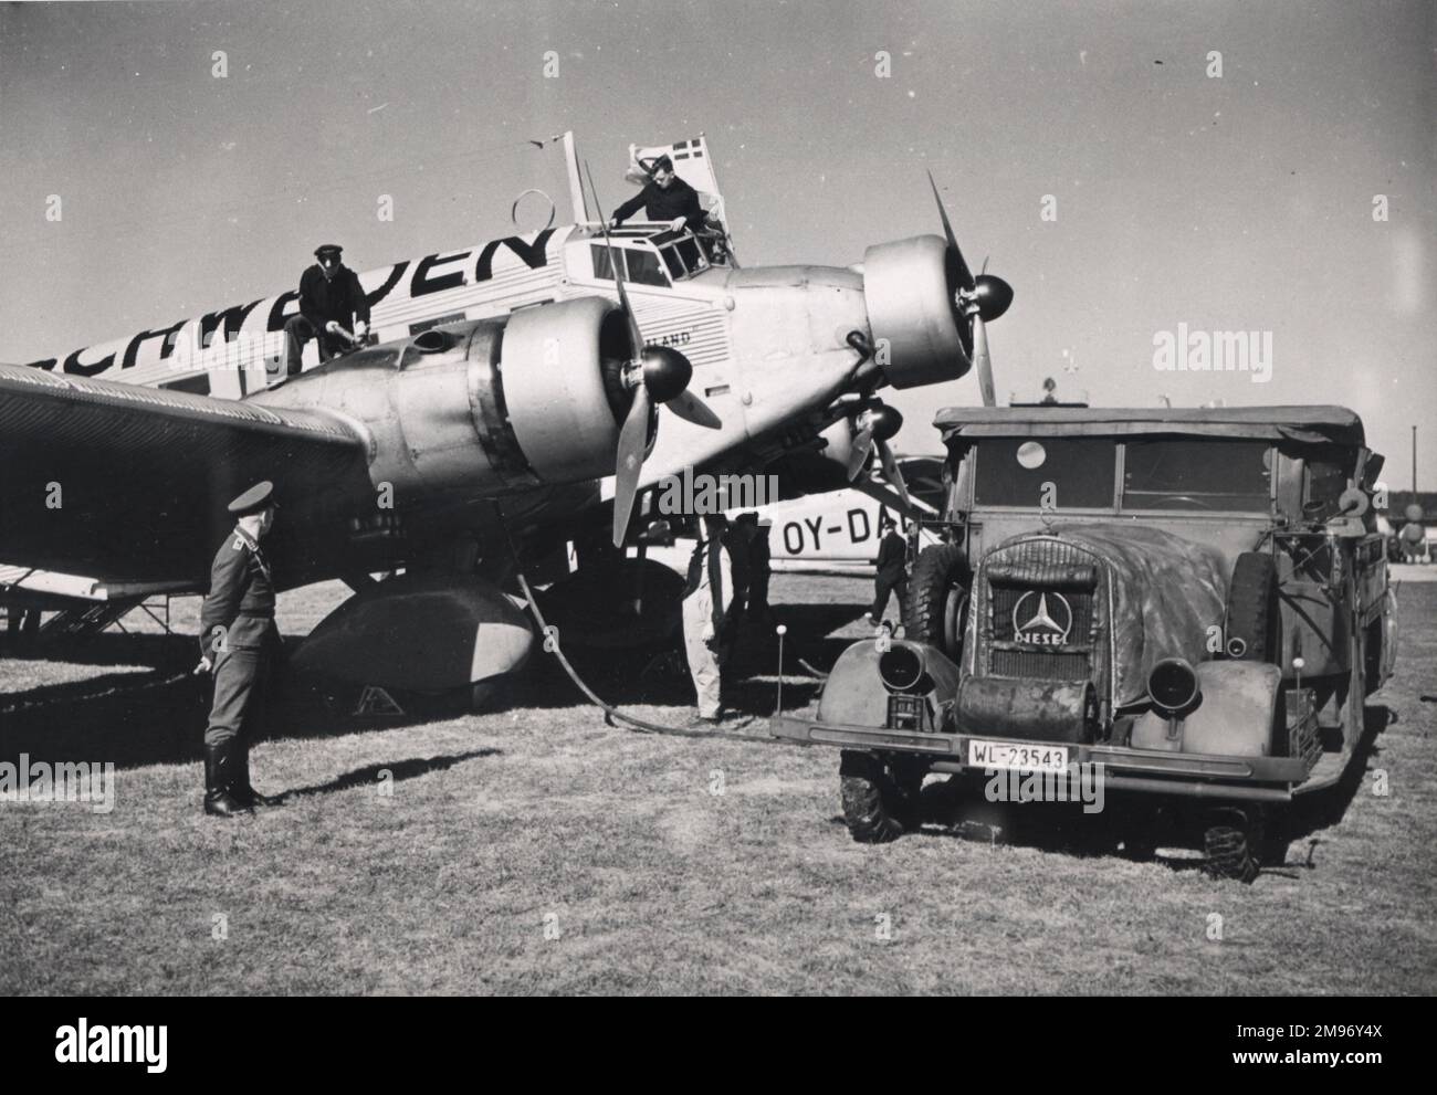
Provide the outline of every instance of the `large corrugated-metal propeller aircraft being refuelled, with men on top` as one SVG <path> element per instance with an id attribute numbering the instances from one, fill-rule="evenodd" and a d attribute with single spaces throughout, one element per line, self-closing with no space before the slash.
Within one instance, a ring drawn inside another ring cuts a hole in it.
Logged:
<path id="1" fill-rule="evenodd" d="M 687 230 L 605 231 L 563 144 L 575 224 L 361 274 L 378 345 L 297 376 L 279 366 L 296 292 L 0 365 L 0 562 L 24 568 L 10 595 L 53 573 L 111 606 L 203 591 L 226 502 L 270 479 L 282 585 L 355 591 L 297 662 L 467 687 L 529 654 L 504 595 L 516 566 L 563 579 L 559 604 L 632 611 L 634 563 L 608 530 L 619 543 L 662 477 L 815 453 L 855 477 L 875 454 L 892 464 L 882 387 L 977 365 L 992 391 L 984 322 L 1012 289 L 971 274 L 935 185 L 946 239 L 875 244 L 855 267 L 739 269 Z M 644 151 L 717 194 L 701 138 Z"/>

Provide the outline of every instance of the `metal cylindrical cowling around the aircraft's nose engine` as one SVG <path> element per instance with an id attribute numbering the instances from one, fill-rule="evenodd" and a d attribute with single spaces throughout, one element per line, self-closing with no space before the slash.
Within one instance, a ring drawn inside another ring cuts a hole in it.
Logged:
<path id="1" fill-rule="evenodd" d="M 884 375 L 895 388 L 957 379 L 973 362 L 958 313 L 957 266 L 938 236 L 879 243 L 864 253 L 864 303 Z"/>

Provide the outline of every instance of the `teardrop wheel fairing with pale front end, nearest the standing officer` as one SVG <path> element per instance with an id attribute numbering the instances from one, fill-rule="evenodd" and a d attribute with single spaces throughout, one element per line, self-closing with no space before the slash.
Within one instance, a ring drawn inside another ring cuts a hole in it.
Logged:
<path id="1" fill-rule="evenodd" d="M 401 575 L 325 616 L 293 667 L 384 688 L 467 688 L 519 670 L 533 642 L 525 614 L 491 582 Z"/>

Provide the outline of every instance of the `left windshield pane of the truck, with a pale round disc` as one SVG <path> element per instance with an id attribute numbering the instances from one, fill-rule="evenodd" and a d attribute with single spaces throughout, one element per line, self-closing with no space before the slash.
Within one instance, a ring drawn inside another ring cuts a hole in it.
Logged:
<path id="1" fill-rule="evenodd" d="M 1096 438 L 984 440 L 976 453 L 973 500 L 979 506 L 1112 509 L 1117 451 L 1115 441 Z"/>

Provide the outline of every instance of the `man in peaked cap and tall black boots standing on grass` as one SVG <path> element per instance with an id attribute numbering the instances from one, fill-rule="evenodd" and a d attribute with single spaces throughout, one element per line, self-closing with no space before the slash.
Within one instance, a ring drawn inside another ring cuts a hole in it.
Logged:
<path id="1" fill-rule="evenodd" d="M 204 812 L 233 818 L 280 800 L 250 786 L 250 744 L 264 716 L 269 662 L 279 645 L 274 581 L 260 540 L 274 523 L 274 484 L 256 483 L 230 503 L 234 532 L 220 545 L 200 612 L 200 664 L 214 673 L 204 731 Z"/>

